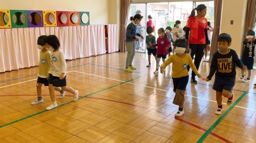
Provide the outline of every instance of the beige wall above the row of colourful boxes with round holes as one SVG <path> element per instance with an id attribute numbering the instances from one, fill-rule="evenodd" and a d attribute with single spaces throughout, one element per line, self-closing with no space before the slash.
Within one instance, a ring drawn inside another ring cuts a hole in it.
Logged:
<path id="1" fill-rule="evenodd" d="M 112 1 L 112 0 L 109 0 Z M 1 1 L 0 9 L 12 10 L 53 10 L 53 11 L 89 11 L 90 24 L 108 24 L 109 7 L 106 0 L 7 0 Z"/>

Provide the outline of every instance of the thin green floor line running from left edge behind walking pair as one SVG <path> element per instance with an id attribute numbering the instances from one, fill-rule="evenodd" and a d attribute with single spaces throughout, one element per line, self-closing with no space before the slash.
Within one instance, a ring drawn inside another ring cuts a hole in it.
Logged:
<path id="1" fill-rule="evenodd" d="M 111 89 L 111 88 L 117 87 L 118 85 L 122 85 L 122 84 L 124 84 L 124 83 L 130 82 L 130 81 L 135 80 L 135 79 L 138 79 L 138 78 L 140 78 L 140 77 L 136 77 L 136 78 L 133 78 L 133 79 L 130 79 L 130 80 L 127 80 L 127 81 L 121 82 L 121 83 L 119 83 L 119 84 L 113 85 L 112 87 L 105 88 L 105 89 L 99 90 L 99 91 L 97 91 L 97 92 L 94 92 L 94 93 L 91 93 L 91 94 L 88 94 L 88 95 L 82 96 L 82 97 L 78 98 L 78 100 L 79 100 L 79 99 L 82 99 L 82 98 L 85 98 L 85 97 L 88 97 L 88 96 L 91 96 L 91 95 L 93 95 L 93 94 L 96 94 L 96 93 L 99 93 L 99 92 L 105 91 L 105 90 L 109 90 L 109 89 Z M 74 101 L 69 101 L 69 102 L 66 102 L 66 103 L 60 104 L 60 105 L 58 105 L 58 106 L 57 106 L 57 107 L 55 107 L 55 108 L 58 108 L 58 107 L 60 107 L 60 106 L 66 105 L 66 104 L 69 104 L 69 103 L 71 103 L 71 102 L 74 102 Z M 25 120 L 25 119 L 28 119 L 28 118 L 33 117 L 33 116 L 36 116 L 36 115 L 39 115 L 40 113 L 43 113 L 43 112 L 46 112 L 46 111 L 50 111 L 50 110 L 44 110 L 44 111 L 40 111 L 40 112 L 34 113 L 33 115 L 30 115 L 30 116 L 24 117 L 24 118 L 22 118 L 22 119 L 19 119 L 19 120 L 16 120 L 16 121 L 10 122 L 10 123 L 7 123 L 7 124 L 5 124 L 5 125 L 1 125 L 1 126 L 0 126 L 0 128 L 3 128 L 3 127 L 5 127 L 5 126 L 11 125 L 11 124 L 13 124 L 13 123 L 16 123 L 16 122 L 19 122 L 19 121 L 22 121 L 22 120 Z"/>

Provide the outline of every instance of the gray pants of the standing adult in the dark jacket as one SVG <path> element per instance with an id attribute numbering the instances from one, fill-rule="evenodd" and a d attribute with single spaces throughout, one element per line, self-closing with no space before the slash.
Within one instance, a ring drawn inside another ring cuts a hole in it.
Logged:
<path id="1" fill-rule="evenodd" d="M 125 42 L 127 49 L 127 57 L 125 67 L 132 66 L 133 58 L 135 55 L 135 41 Z"/>

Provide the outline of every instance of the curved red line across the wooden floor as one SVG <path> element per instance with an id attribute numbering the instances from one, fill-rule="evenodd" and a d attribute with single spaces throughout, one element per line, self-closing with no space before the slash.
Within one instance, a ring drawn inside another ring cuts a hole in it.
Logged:
<path id="1" fill-rule="evenodd" d="M 0 97 L 1 97 L 1 96 L 37 96 L 37 95 L 0 95 Z M 49 96 L 49 95 L 42 95 L 42 96 Z M 66 95 L 66 96 L 73 97 L 73 95 Z M 86 98 L 99 99 L 99 100 L 105 100 L 105 101 L 112 101 L 112 102 L 117 102 L 117 103 L 122 103 L 122 104 L 126 104 L 126 105 L 131 105 L 131 106 L 135 106 L 135 107 L 140 107 L 140 108 L 152 110 L 152 109 L 147 108 L 147 107 L 143 107 L 143 106 L 139 106 L 139 105 L 136 105 L 136 104 L 127 103 L 127 102 L 117 101 L 117 100 L 104 99 L 104 98 L 97 98 L 97 97 L 86 97 Z M 169 115 L 169 114 L 164 113 L 164 112 L 161 112 L 161 111 L 157 111 L 157 110 L 153 110 L 153 111 L 159 112 L 159 113 L 161 113 L 161 114 L 163 114 L 163 115 L 167 115 L 167 116 Z M 190 125 L 190 126 L 193 126 L 193 127 L 195 127 L 195 128 L 198 128 L 198 129 L 200 129 L 200 130 L 202 130 L 202 131 L 207 131 L 206 129 L 204 129 L 204 128 L 200 127 L 200 126 L 195 125 L 195 124 L 193 124 L 193 123 L 190 123 L 190 122 L 188 122 L 188 121 L 185 121 L 185 120 L 183 120 L 183 119 L 180 119 L 180 118 L 177 118 L 177 117 L 175 117 L 175 119 L 176 119 L 176 120 L 179 120 L 179 121 L 181 121 L 181 122 L 184 122 L 184 123 L 186 123 L 186 124 L 188 124 L 188 125 Z M 223 141 L 225 141 L 225 142 L 230 142 L 230 143 L 232 143 L 231 141 L 229 141 L 229 140 L 227 140 L 227 139 L 225 139 L 225 138 L 219 136 L 218 134 L 215 134 L 215 133 L 213 133 L 213 132 L 211 132 L 210 134 L 213 135 L 213 136 L 215 136 L 215 137 L 220 138 L 221 140 L 223 140 Z"/>

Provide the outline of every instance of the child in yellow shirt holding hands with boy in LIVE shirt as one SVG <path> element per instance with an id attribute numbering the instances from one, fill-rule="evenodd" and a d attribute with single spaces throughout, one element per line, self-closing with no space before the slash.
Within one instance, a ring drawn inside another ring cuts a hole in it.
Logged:
<path id="1" fill-rule="evenodd" d="M 199 78 L 201 78 L 201 75 L 198 73 L 196 66 L 192 62 L 191 56 L 187 53 L 184 53 L 187 48 L 187 41 L 185 39 L 177 39 L 175 41 L 175 45 L 176 54 L 170 55 L 167 61 L 160 66 L 160 72 L 163 73 L 163 69 L 170 63 L 173 63 L 172 78 L 175 92 L 173 103 L 175 105 L 179 105 L 179 110 L 175 116 L 181 117 L 184 114 L 184 95 L 188 83 L 187 65 L 191 67 L 191 69 Z"/>

